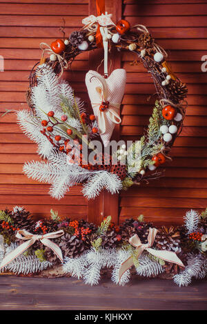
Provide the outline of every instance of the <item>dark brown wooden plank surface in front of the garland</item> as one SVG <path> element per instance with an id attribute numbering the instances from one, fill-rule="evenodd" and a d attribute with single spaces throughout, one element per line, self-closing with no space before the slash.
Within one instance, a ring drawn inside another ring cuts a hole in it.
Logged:
<path id="1" fill-rule="evenodd" d="M 72 278 L 1 276 L 0 310 L 207 310 L 207 281 L 177 287 L 170 280 L 133 279 L 120 287 Z"/>

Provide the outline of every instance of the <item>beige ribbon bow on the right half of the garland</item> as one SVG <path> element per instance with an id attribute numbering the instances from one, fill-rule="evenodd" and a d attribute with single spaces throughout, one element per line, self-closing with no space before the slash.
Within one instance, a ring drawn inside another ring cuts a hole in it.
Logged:
<path id="1" fill-rule="evenodd" d="M 184 267 L 184 264 L 177 257 L 175 252 L 170 252 L 170 251 L 166 251 L 166 250 L 154 250 L 154 249 L 150 248 L 155 241 L 156 234 L 157 234 L 157 229 L 150 227 L 147 244 L 142 244 L 139 239 L 139 236 L 137 234 L 135 234 L 128 240 L 132 246 L 136 247 L 136 250 L 138 252 L 137 259 L 139 258 L 141 253 L 144 250 L 146 250 L 150 254 L 157 256 L 159 259 L 162 259 L 164 261 L 168 261 L 171 263 L 176 263 L 177 265 L 181 265 L 181 267 Z M 130 267 L 132 267 L 133 264 L 134 264 L 134 262 L 133 262 L 132 256 L 130 256 L 126 261 L 124 261 L 124 263 L 121 264 L 121 267 L 119 269 L 119 281 L 121 280 L 121 276 L 123 276 L 124 272 L 126 272 L 126 270 L 130 269 Z"/>

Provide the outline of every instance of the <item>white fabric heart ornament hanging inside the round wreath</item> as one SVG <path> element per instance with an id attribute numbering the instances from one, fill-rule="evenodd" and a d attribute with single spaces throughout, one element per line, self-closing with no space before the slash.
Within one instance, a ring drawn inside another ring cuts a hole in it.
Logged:
<path id="1" fill-rule="evenodd" d="M 115 124 L 121 123 L 119 110 L 126 84 L 126 70 L 114 70 L 108 79 L 96 71 L 86 74 L 86 87 L 99 125 L 103 145 L 107 146 Z"/>

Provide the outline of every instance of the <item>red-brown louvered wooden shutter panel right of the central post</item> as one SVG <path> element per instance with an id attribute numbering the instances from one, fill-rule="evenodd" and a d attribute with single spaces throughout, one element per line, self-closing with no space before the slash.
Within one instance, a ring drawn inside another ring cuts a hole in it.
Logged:
<path id="1" fill-rule="evenodd" d="M 132 25 L 147 26 L 167 50 L 172 70 L 188 85 L 188 108 L 170 154 L 173 161 L 164 166 L 164 178 L 122 192 L 119 222 L 144 214 L 155 223 L 181 223 L 186 210 L 207 205 L 207 72 L 201 72 L 201 57 L 207 54 L 207 1 L 125 0 L 123 14 Z M 152 79 L 141 63 L 130 65 L 134 59 L 133 54 L 122 54 L 128 73 L 121 123 L 121 137 L 126 140 L 141 136 L 155 102 L 154 97 L 147 101 L 155 92 Z"/>

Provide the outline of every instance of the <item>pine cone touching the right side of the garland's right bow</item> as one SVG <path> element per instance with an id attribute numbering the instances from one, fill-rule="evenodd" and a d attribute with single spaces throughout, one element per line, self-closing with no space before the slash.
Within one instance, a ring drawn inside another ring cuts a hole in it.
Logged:
<path id="1" fill-rule="evenodd" d="M 179 253 L 180 247 L 180 233 L 177 228 L 171 226 L 169 229 L 165 226 L 161 227 L 155 238 L 155 247 L 158 250 L 167 250 Z"/>

